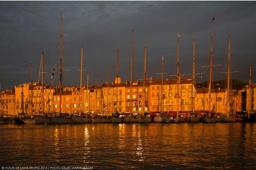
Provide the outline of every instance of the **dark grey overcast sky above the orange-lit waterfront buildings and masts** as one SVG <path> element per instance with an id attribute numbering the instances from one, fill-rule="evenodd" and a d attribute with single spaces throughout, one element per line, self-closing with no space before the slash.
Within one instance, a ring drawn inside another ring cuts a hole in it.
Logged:
<path id="1" fill-rule="evenodd" d="M 62 11 L 63 85 L 80 84 L 81 46 L 84 47 L 83 84 L 106 82 L 116 76 L 116 49 L 119 49 L 119 75 L 130 81 L 131 30 L 134 34 L 133 81 L 143 77 L 144 44 L 147 44 L 147 75 L 160 78 L 161 56 L 164 72 L 176 74 L 176 43 L 180 34 L 180 73 L 192 73 L 193 35 L 196 39 L 196 81 L 208 81 L 211 19 L 214 20 L 213 81 L 227 67 L 228 34 L 231 35 L 232 78 L 256 81 L 256 2 L 0 2 L 0 73 L 2 89 L 37 81 L 40 53 L 44 52 L 45 83 L 52 69 L 59 69 L 59 34 Z M 166 74 L 165 78 L 171 78 Z M 189 78 L 189 76 L 187 76 Z M 57 84 L 58 74 L 54 75 Z"/>

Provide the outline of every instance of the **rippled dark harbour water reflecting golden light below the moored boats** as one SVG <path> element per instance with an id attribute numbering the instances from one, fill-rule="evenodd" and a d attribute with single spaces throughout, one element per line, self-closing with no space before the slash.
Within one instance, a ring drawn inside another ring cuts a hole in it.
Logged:
<path id="1" fill-rule="evenodd" d="M 256 124 L 0 125 L 0 166 L 255 169 Z"/>

